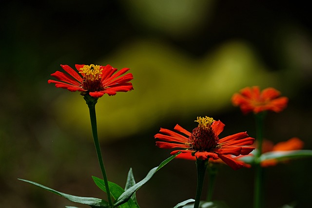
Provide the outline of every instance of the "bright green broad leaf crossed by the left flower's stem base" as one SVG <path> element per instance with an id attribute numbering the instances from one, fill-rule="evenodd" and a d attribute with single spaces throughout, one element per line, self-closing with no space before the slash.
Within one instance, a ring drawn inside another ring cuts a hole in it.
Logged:
<path id="1" fill-rule="evenodd" d="M 106 192 L 104 180 L 95 176 L 92 176 L 92 178 L 95 184 L 98 186 L 98 188 Z M 117 199 L 125 191 L 120 186 L 110 181 L 108 181 L 108 186 L 109 186 L 109 190 L 111 191 L 111 195 L 114 199 Z M 137 208 L 137 205 L 132 201 L 132 199 L 129 199 L 127 202 L 125 202 L 124 204 L 121 204 L 119 207 L 120 208 Z"/>

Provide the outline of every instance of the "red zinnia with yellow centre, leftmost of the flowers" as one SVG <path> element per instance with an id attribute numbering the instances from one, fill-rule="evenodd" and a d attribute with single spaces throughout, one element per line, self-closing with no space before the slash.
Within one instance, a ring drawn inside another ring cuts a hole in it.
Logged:
<path id="1" fill-rule="evenodd" d="M 117 69 L 110 65 L 79 65 L 76 64 L 78 73 L 68 65 L 60 65 L 69 75 L 63 72 L 55 72 L 51 76 L 59 81 L 48 80 L 48 83 L 55 83 L 56 87 L 67 89 L 71 92 L 79 91 L 81 95 L 89 93 L 92 97 L 101 97 L 104 94 L 116 95 L 117 92 L 128 92 L 133 90 L 133 79 L 131 73 L 125 74 L 129 69 Z M 117 72 L 116 74 L 114 74 Z M 79 75 L 81 74 L 81 76 Z M 122 75 L 122 76 L 121 76 Z"/>

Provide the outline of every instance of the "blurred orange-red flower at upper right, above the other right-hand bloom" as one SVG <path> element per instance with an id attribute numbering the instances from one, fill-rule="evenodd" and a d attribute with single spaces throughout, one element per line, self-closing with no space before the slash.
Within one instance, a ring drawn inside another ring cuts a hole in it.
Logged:
<path id="1" fill-rule="evenodd" d="M 279 97 L 280 92 L 274 88 L 266 88 L 260 92 L 258 86 L 246 87 L 235 93 L 232 103 L 239 106 L 243 113 L 260 113 L 263 111 L 274 111 L 276 113 L 284 110 L 288 103 L 287 97 Z"/>

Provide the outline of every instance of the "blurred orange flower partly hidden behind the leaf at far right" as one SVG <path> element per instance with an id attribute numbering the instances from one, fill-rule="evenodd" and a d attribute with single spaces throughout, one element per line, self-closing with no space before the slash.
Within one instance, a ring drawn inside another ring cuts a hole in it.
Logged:
<path id="1" fill-rule="evenodd" d="M 301 150 L 303 147 L 303 141 L 297 137 L 292 137 L 288 141 L 279 142 L 276 145 L 273 145 L 271 142 L 264 140 L 262 148 L 265 148 L 265 152 L 274 152 L 274 151 L 294 151 Z M 267 159 L 261 162 L 262 167 L 275 166 L 278 163 L 276 159 Z"/>

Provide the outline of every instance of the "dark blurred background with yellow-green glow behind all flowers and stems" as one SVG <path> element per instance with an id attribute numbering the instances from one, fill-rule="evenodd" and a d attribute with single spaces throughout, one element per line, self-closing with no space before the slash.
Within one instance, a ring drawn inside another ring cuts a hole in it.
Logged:
<path id="1" fill-rule="evenodd" d="M 311 28 L 309 7 L 290 0 L 2 0 L 0 207 L 86 208 L 17 178 L 104 197 L 91 178 L 101 174 L 85 101 L 47 84 L 60 64 L 131 68 L 135 90 L 97 104 L 108 178 L 122 187 L 130 167 L 139 181 L 169 156 L 155 146 L 160 127 L 191 131 L 208 115 L 226 124 L 220 136 L 255 136 L 253 116 L 231 104 L 246 86 L 290 98 L 282 113 L 269 113 L 266 138 L 297 136 L 312 149 Z M 266 169 L 266 207 L 310 207 L 311 175 L 311 159 Z M 253 176 L 222 166 L 214 199 L 252 207 Z M 176 159 L 137 191 L 138 202 L 174 207 L 195 197 L 195 185 L 195 163 Z"/>

